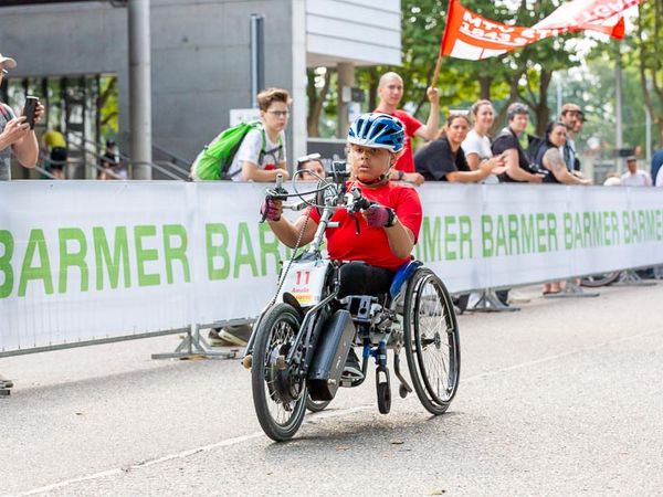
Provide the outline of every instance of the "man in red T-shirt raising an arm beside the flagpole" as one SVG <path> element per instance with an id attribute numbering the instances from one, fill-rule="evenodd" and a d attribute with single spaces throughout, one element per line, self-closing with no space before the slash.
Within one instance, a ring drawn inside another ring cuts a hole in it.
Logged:
<path id="1" fill-rule="evenodd" d="M 378 97 L 380 98 L 380 103 L 375 112 L 389 114 L 399 119 L 406 127 L 404 150 L 391 170 L 392 180 L 408 181 L 412 184 L 421 184 L 424 181 L 423 177 L 417 172 L 414 167 L 412 138 L 418 136 L 430 141 L 438 135 L 438 127 L 440 126 L 440 94 L 438 88 L 432 86 L 429 87 L 425 95 L 431 104 L 431 109 L 424 125 L 407 112 L 398 108 L 400 101 L 403 97 L 402 77 L 394 72 L 385 73 L 380 76 L 378 83 Z"/>

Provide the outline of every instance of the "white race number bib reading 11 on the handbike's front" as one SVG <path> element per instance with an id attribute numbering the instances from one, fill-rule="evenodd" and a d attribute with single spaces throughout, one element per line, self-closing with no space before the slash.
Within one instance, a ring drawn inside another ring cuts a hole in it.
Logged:
<path id="1" fill-rule="evenodd" d="M 288 262 L 283 262 L 287 267 Z M 327 276 L 328 260 L 293 262 L 287 274 L 282 276 L 283 285 L 278 292 L 278 300 L 283 294 L 292 294 L 302 306 L 313 306 L 323 299 L 325 279 Z"/>

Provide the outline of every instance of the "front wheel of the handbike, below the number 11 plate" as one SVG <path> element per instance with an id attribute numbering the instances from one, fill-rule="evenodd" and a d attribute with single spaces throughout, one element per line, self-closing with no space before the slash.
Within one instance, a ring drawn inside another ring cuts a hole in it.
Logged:
<path id="1" fill-rule="evenodd" d="M 299 430 L 306 413 L 306 383 L 276 361 L 286 356 L 299 329 L 299 315 L 287 304 L 269 309 L 256 329 L 251 384 L 257 421 L 265 434 L 284 442 Z"/>

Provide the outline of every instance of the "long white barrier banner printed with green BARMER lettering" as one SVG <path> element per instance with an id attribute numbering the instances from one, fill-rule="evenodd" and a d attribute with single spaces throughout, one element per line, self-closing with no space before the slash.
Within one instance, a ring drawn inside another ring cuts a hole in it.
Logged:
<path id="1" fill-rule="evenodd" d="M 256 316 L 290 256 L 260 223 L 265 187 L 0 183 L 0 352 Z M 660 189 L 419 192 L 414 255 L 451 292 L 663 264 Z"/>

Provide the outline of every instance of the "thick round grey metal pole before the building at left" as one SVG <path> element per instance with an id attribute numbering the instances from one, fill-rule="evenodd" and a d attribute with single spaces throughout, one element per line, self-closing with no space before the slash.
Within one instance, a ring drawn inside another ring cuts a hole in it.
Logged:
<path id="1" fill-rule="evenodd" d="M 134 179 L 151 179 L 150 0 L 129 0 L 129 128 Z"/>

